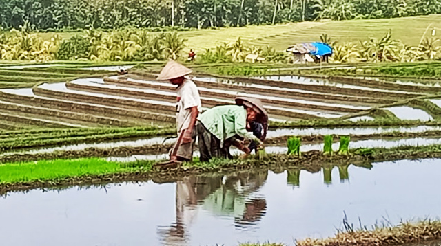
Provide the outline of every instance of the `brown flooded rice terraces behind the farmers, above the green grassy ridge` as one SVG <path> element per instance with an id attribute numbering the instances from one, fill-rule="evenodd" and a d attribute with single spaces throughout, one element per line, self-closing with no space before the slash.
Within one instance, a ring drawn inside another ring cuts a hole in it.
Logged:
<path id="1" fill-rule="evenodd" d="M 1 66 L 0 78 L 13 82 L 6 83 L 9 88 L 0 89 L 0 128 L 174 123 L 173 85 L 136 69 L 129 76 L 116 76 L 112 71 L 116 68 L 59 63 Z M 231 104 L 236 96 L 251 96 L 262 100 L 271 122 L 378 118 L 426 122 L 438 118 L 436 112 L 441 111 L 437 105 L 440 100 L 436 99 L 441 87 L 437 84 L 341 76 L 329 80 L 299 76 L 215 78 L 196 74 L 192 79 L 198 85 L 204 110 Z"/>

